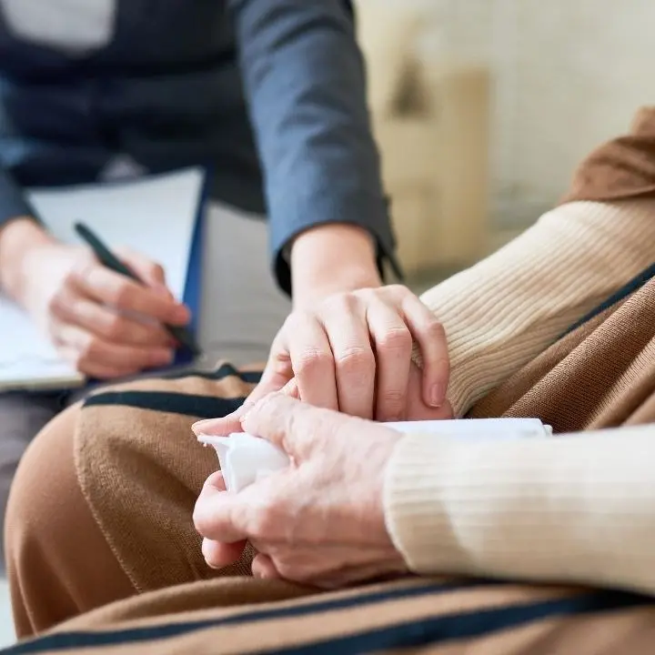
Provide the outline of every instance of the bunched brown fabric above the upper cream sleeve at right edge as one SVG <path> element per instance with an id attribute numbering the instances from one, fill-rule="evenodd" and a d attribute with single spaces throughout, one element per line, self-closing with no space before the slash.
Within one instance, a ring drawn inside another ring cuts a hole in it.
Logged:
<path id="1" fill-rule="evenodd" d="M 576 171 L 562 203 L 655 196 L 655 106 L 641 107 L 627 136 L 594 150 Z"/>

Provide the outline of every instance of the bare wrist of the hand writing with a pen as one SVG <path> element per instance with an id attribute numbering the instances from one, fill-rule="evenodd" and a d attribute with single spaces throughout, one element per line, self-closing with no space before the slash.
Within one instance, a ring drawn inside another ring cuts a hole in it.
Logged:
<path id="1" fill-rule="evenodd" d="M 15 217 L 0 227 L 0 287 L 8 296 L 22 301 L 26 257 L 35 247 L 52 242 L 52 237 L 32 217 Z"/>

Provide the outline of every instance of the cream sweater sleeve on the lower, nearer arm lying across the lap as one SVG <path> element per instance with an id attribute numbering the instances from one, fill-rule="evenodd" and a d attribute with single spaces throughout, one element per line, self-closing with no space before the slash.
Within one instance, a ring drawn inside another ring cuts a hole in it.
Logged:
<path id="1" fill-rule="evenodd" d="M 475 442 L 411 435 L 387 471 L 411 569 L 655 593 L 655 426 Z"/>

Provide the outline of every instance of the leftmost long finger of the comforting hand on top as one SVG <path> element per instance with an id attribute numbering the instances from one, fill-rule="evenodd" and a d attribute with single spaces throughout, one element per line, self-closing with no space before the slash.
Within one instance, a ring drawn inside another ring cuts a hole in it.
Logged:
<path id="1" fill-rule="evenodd" d="M 300 398 L 315 407 L 338 409 L 335 361 L 325 328 L 315 317 L 298 314 L 287 324 L 287 341 Z"/>

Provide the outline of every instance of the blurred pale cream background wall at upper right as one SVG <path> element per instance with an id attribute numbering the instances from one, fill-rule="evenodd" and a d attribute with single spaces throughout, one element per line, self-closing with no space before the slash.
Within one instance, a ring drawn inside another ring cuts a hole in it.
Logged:
<path id="1" fill-rule="evenodd" d="M 465 178 L 458 194 L 466 188 L 469 194 L 485 196 L 484 219 L 473 217 L 473 210 L 463 219 L 444 217 L 437 200 L 417 219 L 426 244 L 428 224 L 434 221 L 448 224 L 449 233 L 459 229 L 466 238 L 475 229 L 484 231 L 484 243 L 469 252 L 459 255 L 450 248 L 439 253 L 438 260 L 447 265 L 466 263 L 475 258 L 473 250 L 497 247 L 529 225 L 557 202 L 582 156 L 624 132 L 638 106 L 655 104 L 652 0 L 358 0 L 358 5 L 372 92 L 380 95 L 385 76 L 391 86 L 398 86 L 393 76 L 401 82 L 408 76 L 407 68 L 399 72 L 403 69 L 398 58 L 429 62 L 433 97 L 441 96 L 433 107 L 431 138 L 435 146 L 450 148 L 447 158 Z M 477 91 L 469 88 L 468 99 L 461 93 L 454 98 L 456 90 L 444 82 L 446 70 L 456 77 L 477 70 Z M 449 101 L 444 94 L 450 94 Z M 444 126 L 441 132 L 436 127 L 444 103 L 451 111 L 469 113 L 469 125 L 457 126 L 477 133 L 469 139 L 468 147 L 476 154 L 468 163 L 459 161 L 461 141 L 448 146 Z M 378 97 L 374 115 L 389 114 L 393 112 L 381 108 Z M 486 135 L 480 126 L 484 120 L 489 126 Z M 410 149 L 402 153 L 381 141 L 388 166 L 412 158 Z M 477 157 L 485 160 L 485 171 L 479 162 L 472 163 Z M 401 227 L 408 209 L 397 209 Z M 448 212 L 466 215 L 457 203 L 451 203 Z M 408 237 L 402 240 L 407 243 Z M 411 259 L 405 250 L 405 258 Z"/>

